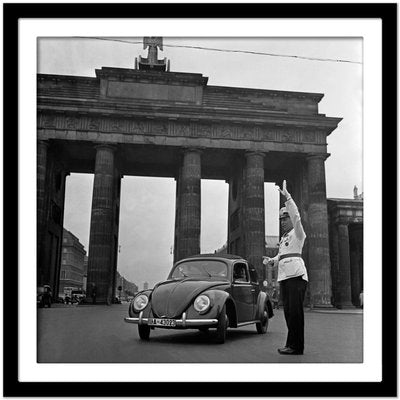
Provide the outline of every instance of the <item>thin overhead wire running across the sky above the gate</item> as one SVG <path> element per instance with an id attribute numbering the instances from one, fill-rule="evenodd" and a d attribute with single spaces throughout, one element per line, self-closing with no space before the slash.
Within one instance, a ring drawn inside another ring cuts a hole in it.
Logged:
<path id="1" fill-rule="evenodd" d="M 129 43 L 129 44 L 142 44 L 143 43 L 141 41 L 112 39 L 112 38 L 105 38 L 105 37 L 99 37 L 99 36 L 75 36 L 75 37 L 80 38 L 80 39 L 106 40 L 106 41 L 111 41 L 111 42 L 121 42 L 121 43 Z M 262 52 L 262 51 L 251 51 L 251 50 L 218 49 L 218 48 L 214 48 L 214 47 L 189 46 L 189 45 L 178 45 L 178 44 L 163 44 L 163 47 L 177 47 L 177 48 L 186 48 L 186 49 L 194 49 L 194 50 L 218 51 L 218 52 L 224 52 L 224 53 L 253 54 L 253 55 L 269 56 L 269 57 L 297 58 L 297 59 L 309 60 L 309 61 L 362 64 L 362 62 L 360 62 L 360 61 L 334 59 L 334 58 L 321 58 L 321 57 L 307 57 L 307 56 L 299 56 L 299 55 L 293 55 L 293 54 L 267 53 L 267 52 Z"/>

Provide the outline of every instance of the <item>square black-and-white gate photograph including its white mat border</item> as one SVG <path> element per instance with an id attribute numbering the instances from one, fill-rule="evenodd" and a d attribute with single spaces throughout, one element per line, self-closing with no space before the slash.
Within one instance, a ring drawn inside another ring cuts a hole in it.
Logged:
<path id="1" fill-rule="evenodd" d="M 379 20 L 22 21 L 21 381 L 380 382 Z"/>

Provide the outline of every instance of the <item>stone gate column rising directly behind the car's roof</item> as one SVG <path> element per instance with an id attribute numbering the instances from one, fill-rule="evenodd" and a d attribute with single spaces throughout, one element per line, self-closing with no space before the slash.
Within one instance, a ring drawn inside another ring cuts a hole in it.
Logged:
<path id="1" fill-rule="evenodd" d="M 177 202 L 174 261 L 200 253 L 201 151 L 198 149 L 188 149 L 183 154 Z"/>

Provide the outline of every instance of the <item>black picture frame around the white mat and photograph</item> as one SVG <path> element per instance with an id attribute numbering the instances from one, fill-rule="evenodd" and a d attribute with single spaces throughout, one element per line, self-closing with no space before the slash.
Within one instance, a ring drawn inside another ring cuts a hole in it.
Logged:
<path id="1" fill-rule="evenodd" d="M 382 382 L 20 382 L 18 380 L 18 21 L 20 18 L 378 18 L 382 20 L 383 210 Z M 281 397 L 397 395 L 397 4 L 3 4 L 4 296 L 3 373 L 7 397 Z M 390 179 L 390 181 L 389 181 Z M 390 201 L 390 203 L 389 203 Z M 389 260 L 388 255 L 391 255 Z"/>

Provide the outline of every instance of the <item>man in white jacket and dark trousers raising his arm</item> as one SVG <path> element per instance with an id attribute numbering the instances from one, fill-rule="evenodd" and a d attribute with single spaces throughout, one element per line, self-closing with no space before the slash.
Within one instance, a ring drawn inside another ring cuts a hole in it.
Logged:
<path id="1" fill-rule="evenodd" d="M 279 221 L 282 238 L 279 242 L 278 254 L 264 257 L 265 265 L 278 266 L 278 282 L 280 283 L 283 309 L 288 335 L 285 347 L 278 349 L 280 354 L 303 354 L 304 351 L 304 310 L 303 302 L 307 288 L 308 276 L 301 252 L 306 234 L 301 224 L 299 210 L 283 181 L 285 207 L 279 210 Z"/>

